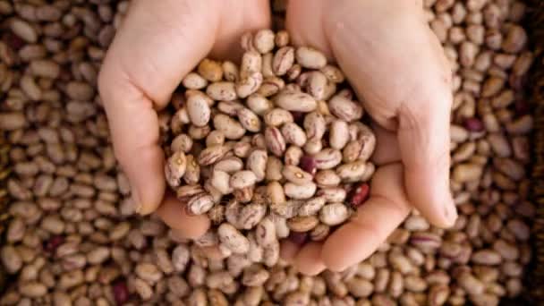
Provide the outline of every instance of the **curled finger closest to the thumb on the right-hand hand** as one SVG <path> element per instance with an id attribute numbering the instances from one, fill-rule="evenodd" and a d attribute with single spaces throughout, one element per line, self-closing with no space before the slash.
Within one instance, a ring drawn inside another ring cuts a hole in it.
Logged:
<path id="1" fill-rule="evenodd" d="M 331 234 L 321 253 L 328 269 L 342 271 L 368 258 L 410 212 L 404 192 L 403 166 L 379 167 L 370 184 L 370 199 L 356 215 Z"/>

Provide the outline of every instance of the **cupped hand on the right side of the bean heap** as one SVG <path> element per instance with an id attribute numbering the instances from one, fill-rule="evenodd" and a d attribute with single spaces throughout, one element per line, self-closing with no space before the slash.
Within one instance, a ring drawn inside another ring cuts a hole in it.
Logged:
<path id="1" fill-rule="evenodd" d="M 421 1 L 297 0 L 287 7 L 296 45 L 335 58 L 375 123 L 377 171 L 370 199 L 325 242 L 282 244 L 304 274 L 339 271 L 368 258 L 417 208 L 454 225 L 449 191 L 451 70 Z"/>

